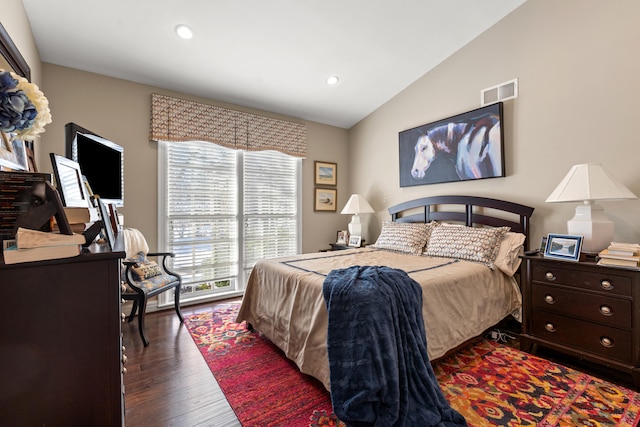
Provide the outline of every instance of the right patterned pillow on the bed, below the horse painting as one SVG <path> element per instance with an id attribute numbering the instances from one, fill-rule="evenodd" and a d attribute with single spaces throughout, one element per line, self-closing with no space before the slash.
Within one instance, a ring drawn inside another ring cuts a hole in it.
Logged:
<path id="1" fill-rule="evenodd" d="M 509 230 L 509 227 L 435 227 L 424 254 L 479 262 L 493 269 L 502 236 Z"/>

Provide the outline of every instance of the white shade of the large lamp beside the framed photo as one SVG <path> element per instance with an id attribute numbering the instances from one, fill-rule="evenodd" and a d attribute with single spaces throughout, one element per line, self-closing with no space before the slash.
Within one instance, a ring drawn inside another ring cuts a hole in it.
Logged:
<path id="1" fill-rule="evenodd" d="M 599 163 L 575 165 L 547 197 L 547 203 L 587 200 L 636 199 L 627 187 L 611 176 Z"/>

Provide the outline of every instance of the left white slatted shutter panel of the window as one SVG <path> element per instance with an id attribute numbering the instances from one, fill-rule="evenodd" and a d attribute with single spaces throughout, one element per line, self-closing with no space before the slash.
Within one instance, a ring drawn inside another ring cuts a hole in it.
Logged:
<path id="1" fill-rule="evenodd" d="M 236 152 L 207 142 L 166 144 L 166 224 L 183 284 L 236 277 Z"/>

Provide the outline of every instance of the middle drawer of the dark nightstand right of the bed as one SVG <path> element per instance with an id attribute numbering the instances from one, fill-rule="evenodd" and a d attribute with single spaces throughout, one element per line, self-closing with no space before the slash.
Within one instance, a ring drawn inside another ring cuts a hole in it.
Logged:
<path id="1" fill-rule="evenodd" d="M 534 283 L 534 308 L 631 330 L 631 300 Z"/>

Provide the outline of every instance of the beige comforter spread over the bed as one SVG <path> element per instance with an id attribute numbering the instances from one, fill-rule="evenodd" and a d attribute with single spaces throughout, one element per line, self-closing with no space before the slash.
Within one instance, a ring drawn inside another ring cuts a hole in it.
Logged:
<path id="1" fill-rule="evenodd" d="M 353 265 L 399 268 L 422 286 L 422 315 L 431 360 L 480 335 L 521 306 L 513 277 L 448 258 L 372 248 L 313 253 L 258 262 L 247 283 L 237 321 L 247 321 L 327 390 L 325 276 Z"/>

